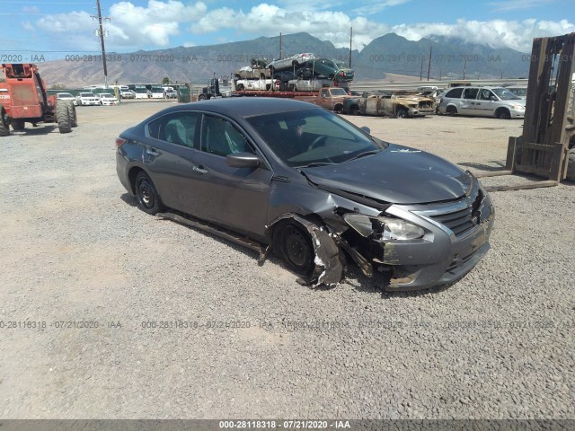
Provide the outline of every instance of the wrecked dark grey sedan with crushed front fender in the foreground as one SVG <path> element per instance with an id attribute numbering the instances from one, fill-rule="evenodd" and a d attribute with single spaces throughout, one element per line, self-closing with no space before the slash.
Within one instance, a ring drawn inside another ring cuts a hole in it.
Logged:
<path id="1" fill-rule="evenodd" d="M 261 259 L 275 251 L 309 284 L 337 284 L 349 257 L 368 277 L 389 271 L 387 289 L 426 288 L 463 277 L 489 249 L 494 209 L 470 172 L 304 101 L 173 106 L 116 147 L 119 180 L 143 211 Z"/>

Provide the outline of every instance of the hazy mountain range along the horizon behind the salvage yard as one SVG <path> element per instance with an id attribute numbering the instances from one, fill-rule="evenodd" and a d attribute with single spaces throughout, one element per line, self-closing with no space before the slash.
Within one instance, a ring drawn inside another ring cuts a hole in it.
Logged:
<path id="1" fill-rule="evenodd" d="M 261 37 L 201 47 L 139 50 L 107 53 L 108 83 L 203 84 L 210 77 L 230 76 L 253 57 L 268 60 L 280 57 L 280 37 Z M 430 79 L 486 79 L 525 77 L 529 55 L 510 48 L 491 48 L 462 40 L 435 38 L 407 40 L 388 33 L 372 40 L 361 51 L 336 48 L 332 42 L 301 32 L 281 37 L 281 57 L 313 52 L 349 64 L 356 81 L 385 79 L 386 74 L 412 75 Z M 429 63 L 429 53 L 431 61 Z M 64 59 L 39 63 L 49 87 L 102 84 L 102 56 L 69 55 Z"/>

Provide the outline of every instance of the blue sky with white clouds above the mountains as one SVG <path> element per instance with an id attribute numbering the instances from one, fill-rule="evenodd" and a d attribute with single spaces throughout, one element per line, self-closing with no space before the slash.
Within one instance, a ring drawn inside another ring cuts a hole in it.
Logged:
<path id="1" fill-rule="evenodd" d="M 307 31 L 354 47 L 394 31 L 409 40 L 456 36 L 529 52 L 534 37 L 575 31 L 575 0 L 102 0 L 107 51 L 199 46 Z M 0 56 L 97 53 L 95 0 L 0 0 Z M 10 22 L 10 25 L 5 25 Z"/>

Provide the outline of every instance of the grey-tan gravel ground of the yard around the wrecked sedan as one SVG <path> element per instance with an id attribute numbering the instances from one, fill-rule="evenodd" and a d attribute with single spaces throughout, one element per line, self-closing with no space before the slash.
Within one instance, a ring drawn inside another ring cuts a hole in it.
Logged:
<path id="1" fill-rule="evenodd" d="M 453 286 L 385 294 L 353 268 L 314 290 L 137 209 L 114 138 L 165 106 L 84 107 L 70 134 L 1 138 L 0 418 L 575 418 L 574 184 L 491 193 L 491 251 Z M 474 172 L 521 133 L 349 119 Z"/>

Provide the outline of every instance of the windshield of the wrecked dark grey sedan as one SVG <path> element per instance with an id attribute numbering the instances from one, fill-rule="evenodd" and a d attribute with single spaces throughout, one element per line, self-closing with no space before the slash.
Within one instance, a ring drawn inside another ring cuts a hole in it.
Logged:
<path id="1" fill-rule="evenodd" d="M 280 112 L 248 121 L 290 167 L 344 163 L 388 145 L 327 110 Z"/>

